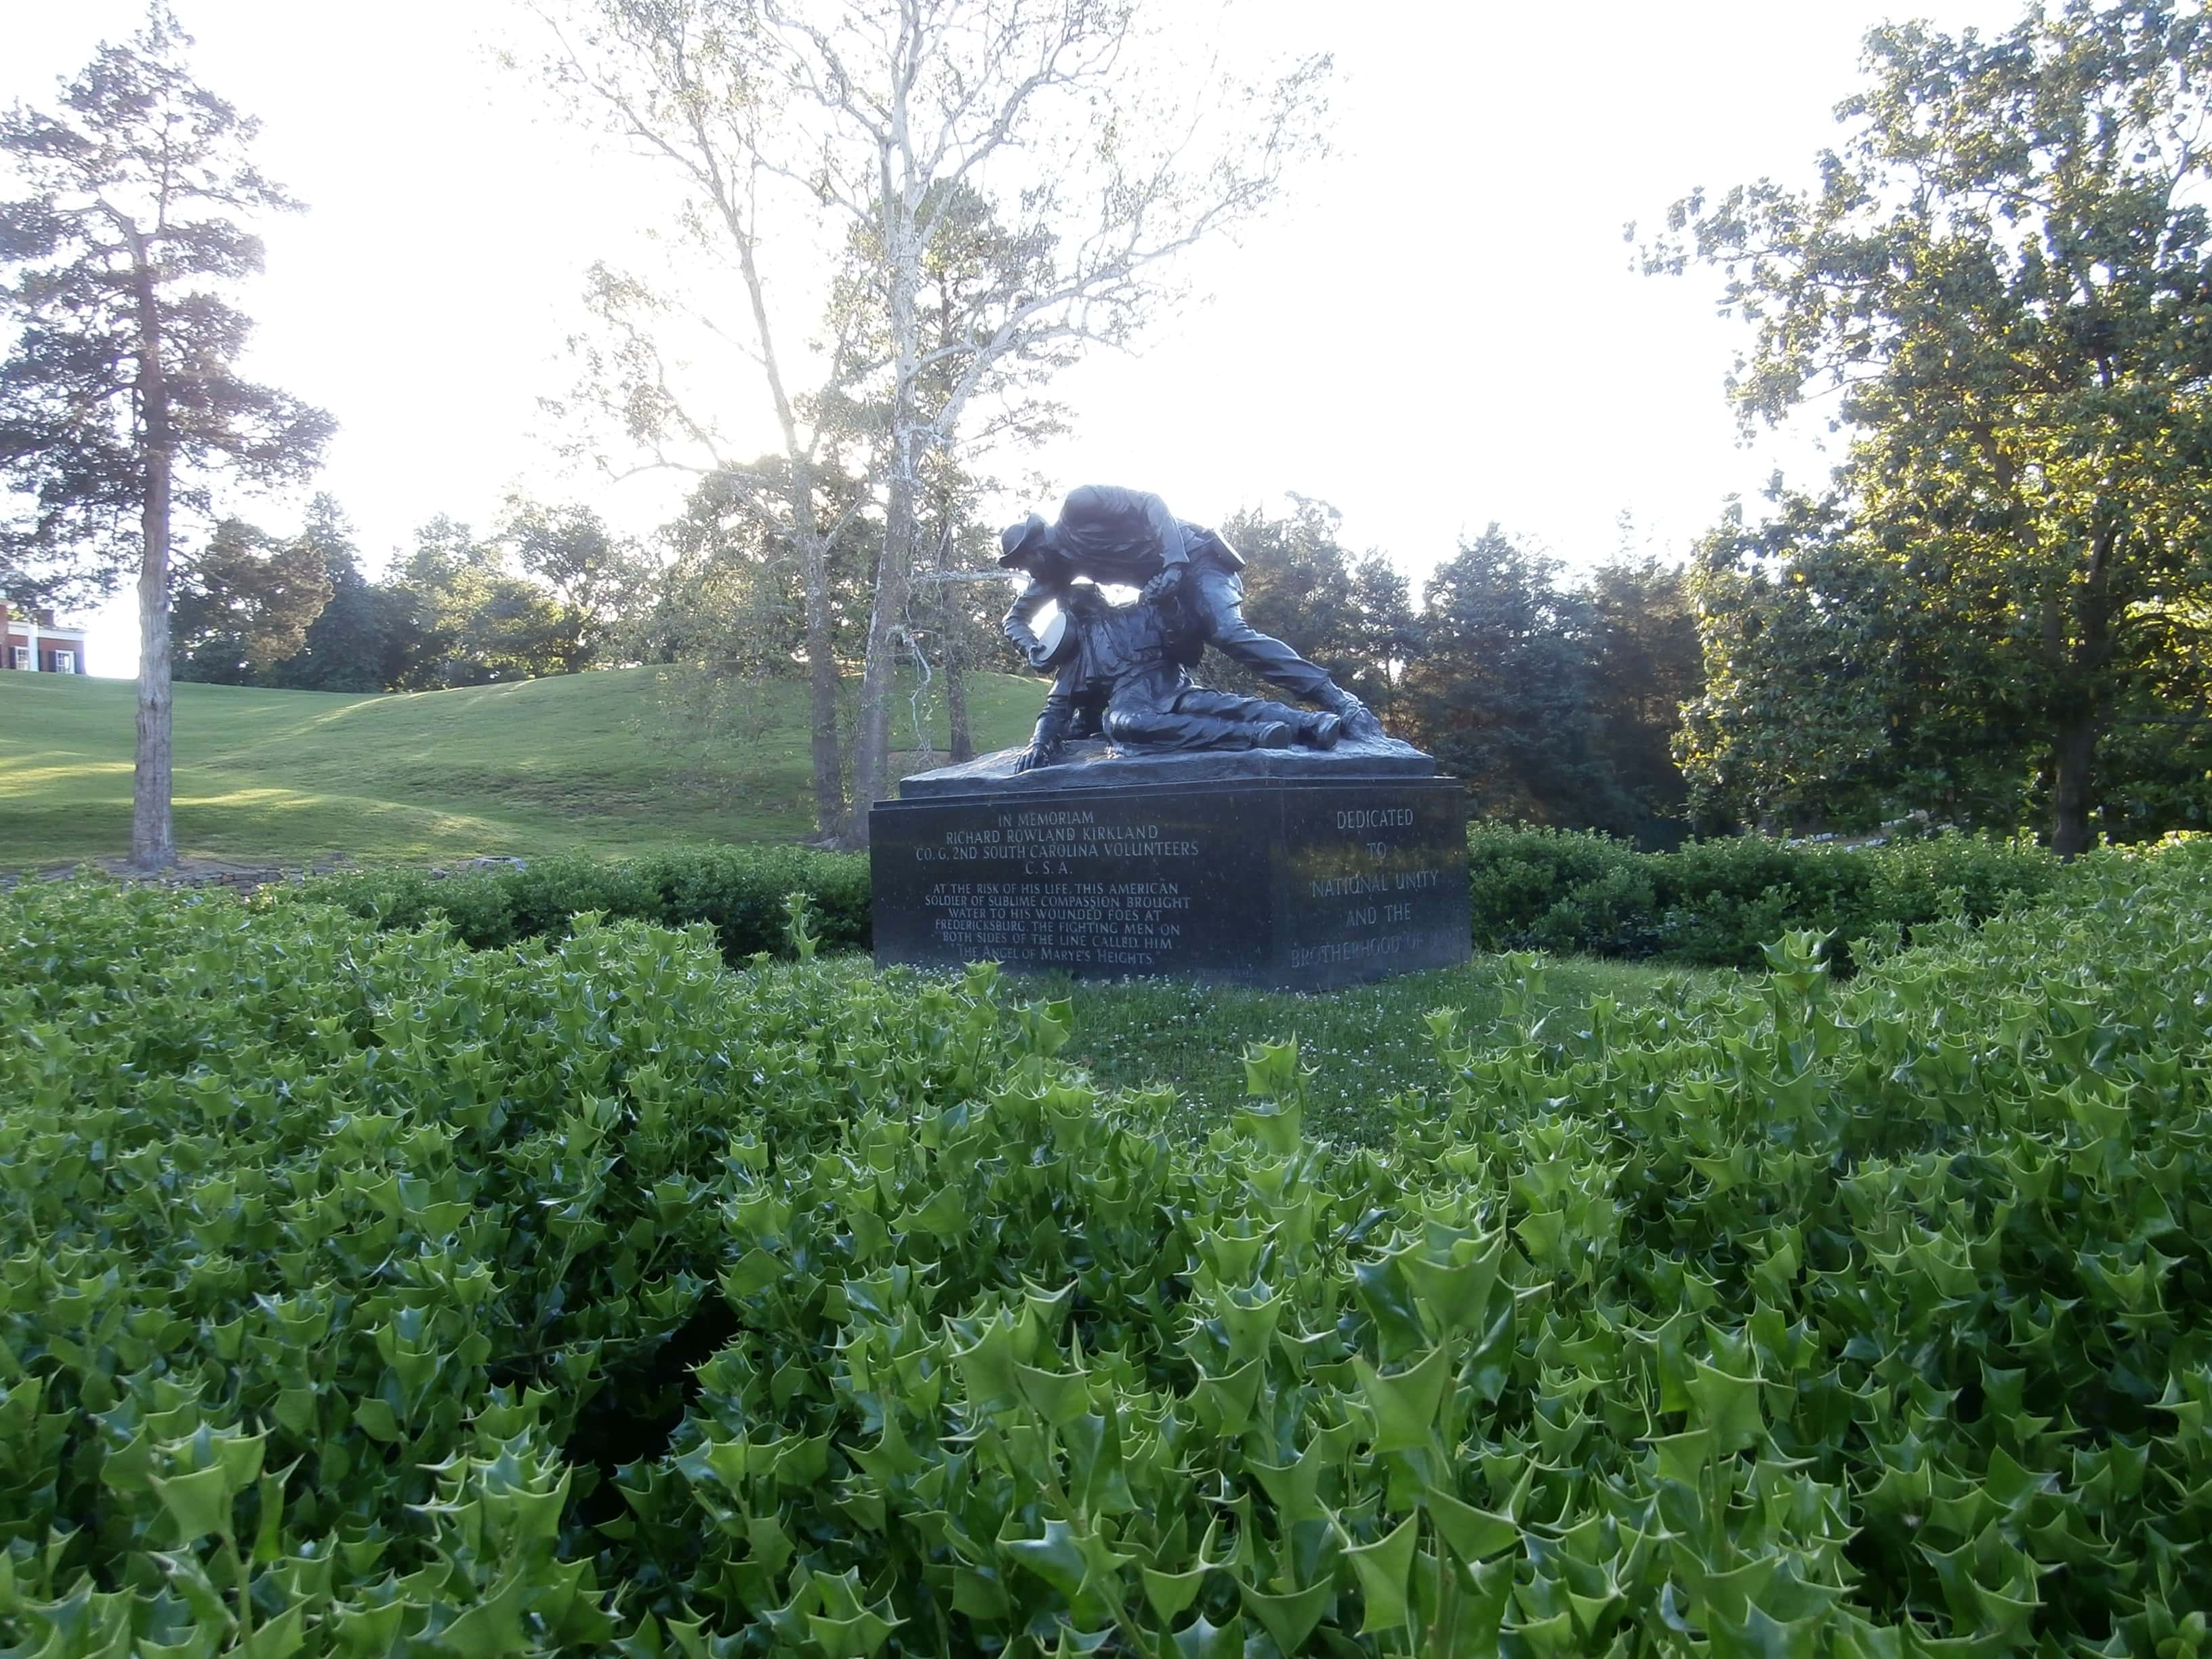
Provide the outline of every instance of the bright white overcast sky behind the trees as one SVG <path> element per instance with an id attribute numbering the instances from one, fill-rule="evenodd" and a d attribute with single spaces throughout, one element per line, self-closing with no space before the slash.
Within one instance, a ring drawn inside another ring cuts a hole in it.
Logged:
<path id="1" fill-rule="evenodd" d="M 511 0 L 177 11 L 199 77 L 261 117 L 263 168 L 312 208 L 263 228 L 248 367 L 338 418 L 319 487 L 365 564 L 440 511 L 489 524 L 515 484 L 626 529 L 666 518 L 666 482 L 564 473 L 538 411 L 568 383 L 584 265 L 637 246 L 657 188 L 493 64 L 535 40 Z M 46 102 L 142 15 L 0 0 L 0 100 Z M 1679 553 L 1776 465 L 1816 482 L 1809 434 L 1739 445 L 1721 380 L 1743 334 L 1714 316 L 1717 279 L 1635 274 L 1621 228 L 1699 184 L 1807 177 L 1860 84 L 1858 38 L 1898 15 L 1986 31 L 2020 4 L 1245 0 L 1254 35 L 1336 53 L 1336 155 L 1199 254 L 1203 303 L 1060 380 L 1075 431 L 1031 465 L 1201 522 L 1318 495 L 1416 580 L 1489 520 L 1579 564 L 1615 551 L 1626 509 Z M 270 529 L 299 513 L 234 504 Z M 93 628 L 93 670 L 131 672 L 128 604 Z"/>

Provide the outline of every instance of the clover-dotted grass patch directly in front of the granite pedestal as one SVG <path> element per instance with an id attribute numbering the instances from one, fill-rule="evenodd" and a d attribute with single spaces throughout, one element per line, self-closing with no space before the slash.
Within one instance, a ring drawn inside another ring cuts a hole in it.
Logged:
<path id="1" fill-rule="evenodd" d="M 1513 969 L 1478 956 L 1467 967 L 1407 973 L 1349 991 L 1301 995 L 1192 987 L 1168 980 L 1068 982 L 1042 975 L 1022 982 L 1031 995 L 1073 998 L 1075 1035 L 1064 1060 L 1091 1068 L 1110 1088 L 1170 1084 L 1194 1130 L 1212 1128 L 1243 1104 L 1248 1042 L 1298 1040 L 1314 1077 L 1307 1084 L 1307 1130 L 1352 1141 L 1383 1137 L 1380 1102 L 1442 1082 L 1429 1048 L 1425 1015 L 1458 1009 L 1460 1033 L 1484 1046 L 1500 1026 Z M 1595 958 L 1546 960 L 1533 1006 L 1546 1018 L 1582 1018 L 1595 998 L 1619 1006 L 1679 1004 L 1732 984 L 1712 969 L 1668 969 Z"/>

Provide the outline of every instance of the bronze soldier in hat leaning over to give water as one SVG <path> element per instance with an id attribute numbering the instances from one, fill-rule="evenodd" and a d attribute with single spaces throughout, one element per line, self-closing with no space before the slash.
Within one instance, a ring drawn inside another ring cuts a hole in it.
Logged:
<path id="1" fill-rule="evenodd" d="M 1141 604 L 1159 608 L 1168 650 L 1179 668 L 1197 666 L 1206 646 L 1214 646 L 1270 686 L 1318 703 L 1336 717 L 1345 737 L 1383 737 L 1383 721 L 1374 710 L 1329 679 L 1325 668 L 1245 622 L 1239 577 L 1243 560 L 1237 549 L 1214 531 L 1175 518 L 1159 495 L 1084 484 L 1068 491 L 1055 522 L 1031 513 L 1020 524 L 1009 524 L 1000 535 L 1000 564 L 1029 573 L 1004 626 L 1006 637 L 1037 668 L 1048 664 L 1037 661 L 1042 641 L 1031 619 L 1044 604 L 1064 599 L 1082 577 L 1126 584 L 1144 591 Z"/>

